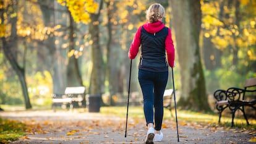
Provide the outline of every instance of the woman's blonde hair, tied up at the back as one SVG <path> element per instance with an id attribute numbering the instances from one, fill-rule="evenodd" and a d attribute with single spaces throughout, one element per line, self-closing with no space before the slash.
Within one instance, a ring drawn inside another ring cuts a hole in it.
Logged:
<path id="1" fill-rule="evenodd" d="M 146 14 L 147 14 L 146 18 L 148 22 L 150 23 L 157 22 L 158 20 L 161 20 L 164 17 L 164 14 L 165 14 L 164 7 L 158 3 L 151 4 L 151 6 L 148 7 Z"/>

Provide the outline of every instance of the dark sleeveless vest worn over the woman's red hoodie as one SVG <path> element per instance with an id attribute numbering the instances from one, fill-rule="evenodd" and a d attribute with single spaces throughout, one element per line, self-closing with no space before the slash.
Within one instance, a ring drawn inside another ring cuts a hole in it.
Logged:
<path id="1" fill-rule="evenodd" d="M 156 33 L 148 33 L 142 27 L 140 36 L 142 55 L 140 56 L 139 69 L 153 72 L 168 71 L 164 44 L 167 35 L 168 27 L 164 27 Z"/>

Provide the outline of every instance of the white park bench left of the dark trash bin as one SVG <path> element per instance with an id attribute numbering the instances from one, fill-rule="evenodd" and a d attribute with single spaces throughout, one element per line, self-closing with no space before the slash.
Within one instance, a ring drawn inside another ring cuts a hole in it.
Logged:
<path id="1" fill-rule="evenodd" d="M 66 87 L 64 94 L 54 93 L 52 95 L 53 103 L 52 108 L 56 111 L 57 106 L 70 109 L 74 108 L 74 104 L 78 106 L 85 106 L 85 87 Z"/>

